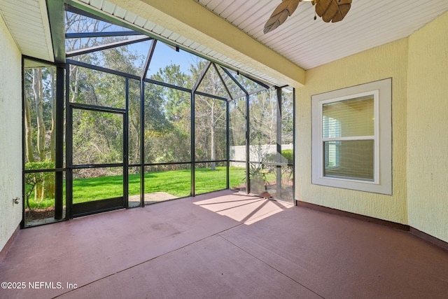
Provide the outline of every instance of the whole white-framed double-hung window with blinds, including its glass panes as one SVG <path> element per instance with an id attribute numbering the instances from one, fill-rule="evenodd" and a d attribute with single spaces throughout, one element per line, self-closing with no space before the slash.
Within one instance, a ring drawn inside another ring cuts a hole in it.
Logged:
<path id="1" fill-rule="evenodd" d="M 311 97 L 312 183 L 392 194 L 391 79 Z"/>

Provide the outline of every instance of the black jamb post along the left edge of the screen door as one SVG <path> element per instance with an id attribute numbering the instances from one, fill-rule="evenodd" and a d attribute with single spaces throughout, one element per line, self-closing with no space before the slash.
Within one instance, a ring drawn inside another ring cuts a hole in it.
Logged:
<path id="1" fill-rule="evenodd" d="M 65 69 L 65 218 L 73 218 L 73 109 L 70 105 L 70 64 Z"/>

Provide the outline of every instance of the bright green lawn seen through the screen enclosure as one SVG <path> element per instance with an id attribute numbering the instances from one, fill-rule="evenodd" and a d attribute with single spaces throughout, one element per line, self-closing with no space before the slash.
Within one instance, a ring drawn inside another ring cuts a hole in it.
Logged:
<path id="1" fill-rule="evenodd" d="M 230 167 L 230 188 L 241 186 L 245 175 L 244 168 Z M 163 191 L 178 197 L 188 196 L 190 195 L 190 176 L 190 169 L 148 172 L 145 174 L 145 193 Z M 225 189 L 227 187 L 225 181 L 226 167 L 216 167 L 214 171 L 209 168 L 198 168 L 195 172 L 195 193 Z M 140 174 L 130 174 L 129 195 L 138 194 L 140 194 Z M 123 176 L 73 179 L 73 203 L 120 196 L 123 196 Z M 37 207 L 33 194 L 29 202 L 32 208 Z M 52 207 L 54 202 L 52 198 L 43 200 L 39 208 Z"/>

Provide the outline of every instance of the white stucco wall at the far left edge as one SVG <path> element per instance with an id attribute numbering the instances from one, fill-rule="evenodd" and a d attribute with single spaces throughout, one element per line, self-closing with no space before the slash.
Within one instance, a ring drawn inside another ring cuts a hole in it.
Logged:
<path id="1" fill-rule="evenodd" d="M 21 55 L 0 17 L 0 250 L 22 220 Z M 19 204 L 13 198 L 19 197 Z"/>

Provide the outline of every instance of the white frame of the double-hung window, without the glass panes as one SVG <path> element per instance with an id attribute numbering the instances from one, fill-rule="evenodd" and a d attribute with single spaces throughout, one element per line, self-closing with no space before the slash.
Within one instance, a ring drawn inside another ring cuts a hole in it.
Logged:
<path id="1" fill-rule="evenodd" d="M 374 135 L 323 138 L 323 104 L 373 95 Z M 392 79 L 374 81 L 311 96 L 312 167 L 311 183 L 336 188 L 392 194 Z M 345 179 L 324 176 L 324 141 L 373 140 L 374 178 Z"/>

